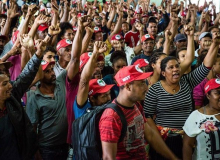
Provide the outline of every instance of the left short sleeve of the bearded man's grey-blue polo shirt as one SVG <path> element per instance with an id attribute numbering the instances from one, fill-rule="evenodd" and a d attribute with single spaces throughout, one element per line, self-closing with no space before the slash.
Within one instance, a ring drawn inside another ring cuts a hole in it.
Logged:
<path id="1" fill-rule="evenodd" d="M 37 124 L 39 121 L 39 109 L 36 104 L 34 91 L 29 91 L 30 97 L 27 99 L 26 113 L 32 124 Z"/>

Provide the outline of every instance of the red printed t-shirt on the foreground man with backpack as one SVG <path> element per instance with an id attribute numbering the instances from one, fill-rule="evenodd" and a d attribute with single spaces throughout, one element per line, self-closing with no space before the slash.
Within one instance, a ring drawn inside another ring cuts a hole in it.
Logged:
<path id="1" fill-rule="evenodd" d="M 117 160 L 146 160 L 144 123 L 146 119 L 143 107 L 139 104 L 134 107 L 124 107 L 116 103 L 123 111 L 127 120 L 127 133 L 122 142 L 118 143 L 121 135 L 122 123 L 118 114 L 111 108 L 106 109 L 99 121 L 101 141 L 118 143 Z"/>

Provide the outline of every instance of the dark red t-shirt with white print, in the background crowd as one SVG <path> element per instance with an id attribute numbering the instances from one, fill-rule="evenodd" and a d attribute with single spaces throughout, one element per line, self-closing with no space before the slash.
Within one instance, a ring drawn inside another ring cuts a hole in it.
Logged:
<path id="1" fill-rule="evenodd" d="M 125 42 L 128 44 L 129 47 L 133 48 L 137 45 L 138 41 L 140 40 L 140 33 L 128 31 L 125 34 Z"/>

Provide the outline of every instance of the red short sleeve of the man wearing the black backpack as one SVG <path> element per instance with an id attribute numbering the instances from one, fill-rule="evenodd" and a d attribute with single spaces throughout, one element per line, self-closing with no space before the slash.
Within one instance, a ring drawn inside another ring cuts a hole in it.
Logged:
<path id="1" fill-rule="evenodd" d="M 121 130 L 122 123 L 117 113 L 111 108 L 105 109 L 99 121 L 101 141 L 118 143 Z"/>

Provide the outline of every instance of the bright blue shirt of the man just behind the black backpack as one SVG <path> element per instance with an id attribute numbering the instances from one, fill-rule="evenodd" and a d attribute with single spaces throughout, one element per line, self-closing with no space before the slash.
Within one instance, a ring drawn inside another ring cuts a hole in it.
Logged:
<path id="1" fill-rule="evenodd" d="M 74 103 L 73 103 L 73 112 L 74 112 L 75 119 L 84 115 L 86 113 L 87 108 L 91 108 L 91 107 L 92 105 L 90 104 L 89 100 L 87 100 L 85 105 L 80 108 L 75 98 Z"/>

